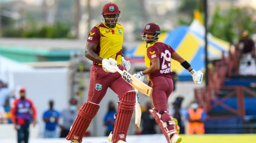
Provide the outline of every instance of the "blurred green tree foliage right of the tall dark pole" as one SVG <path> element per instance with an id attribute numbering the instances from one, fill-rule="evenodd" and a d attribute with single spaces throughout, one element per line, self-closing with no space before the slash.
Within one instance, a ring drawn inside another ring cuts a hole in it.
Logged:
<path id="1" fill-rule="evenodd" d="M 255 22 L 252 16 L 255 10 L 250 8 L 235 8 L 227 10 L 216 8 L 209 32 L 225 41 L 236 44 L 243 30 L 248 30 L 249 34 L 256 33 Z"/>

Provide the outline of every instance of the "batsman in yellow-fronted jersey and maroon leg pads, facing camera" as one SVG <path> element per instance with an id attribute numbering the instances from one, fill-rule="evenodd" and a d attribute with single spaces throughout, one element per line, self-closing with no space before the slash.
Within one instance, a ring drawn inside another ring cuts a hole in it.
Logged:
<path id="1" fill-rule="evenodd" d="M 136 92 L 122 79 L 114 66 L 129 70 L 130 62 L 122 58 L 124 28 L 120 22 L 120 11 L 115 3 L 107 3 L 102 9 L 103 22 L 89 33 L 85 56 L 93 61 L 88 100 L 79 109 L 67 140 L 81 143 L 84 132 L 96 116 L 99 103 L 110 87 L 120 100 L 113 133 L 108 137 L 113 143 L 126 143 L 126 135 L 135 107 Z M 111 59 L 112 58 L 112 59 Z"/>

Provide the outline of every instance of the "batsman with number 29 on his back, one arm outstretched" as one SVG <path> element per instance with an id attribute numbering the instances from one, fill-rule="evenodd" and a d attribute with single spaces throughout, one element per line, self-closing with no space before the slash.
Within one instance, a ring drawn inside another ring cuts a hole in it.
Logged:
<path id="1" fill-rule="evenodd" d="M 144 75 L 148 75 L 148 85 L 153 88 L 151 100 L 153 109 L 149 112 L 155 118 L 155 121 L 161 128 L 168 143 L 179 143 L 182 138 L 178 135 L 179 126 L 177 120 L 167 110 L 168 97 L 173 91 L 171 58 L 180 62 L 192 75 L 195 83 L 201 83 L 203 73 L 195 71 L 190 64 L 179 56 L 171 46 L 158 41 L 160 35 L 160 27 L 155 23 L 148 23 L 142 31 L 142 39 L 147 47 L 145 55 L 145 64 L 147 69 L 140 71 L 134 76 L 143 79 Z M 177 132 L 178 131 L 178 132 Z"/>

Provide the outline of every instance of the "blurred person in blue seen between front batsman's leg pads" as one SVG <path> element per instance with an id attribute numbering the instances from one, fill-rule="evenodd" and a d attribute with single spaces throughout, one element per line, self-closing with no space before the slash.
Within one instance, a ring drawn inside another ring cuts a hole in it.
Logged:
<path id="1" fill-rule="evenodd" d="M 108 112 L 104 117 L 104 125 L 107 126 L 105 136 L 108 136 L 113 131 L 113 125 L 115 124 L 114 115 L 116 114 L 116 108 L 112 101 L 108 103 Z"/>

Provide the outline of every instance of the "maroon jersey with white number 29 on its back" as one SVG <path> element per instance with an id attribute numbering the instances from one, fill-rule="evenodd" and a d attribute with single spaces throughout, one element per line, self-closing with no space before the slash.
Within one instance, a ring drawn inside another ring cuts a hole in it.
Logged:
<path id="1" fill-rule="evenodd" d="M 145 64 L 150 67 L 151 60 L 154 58 L 159 58 L 160 69 L 153 73 L 148 74 L 148 79 L 155 76 L 165 76 L 172 78 L 172 68 L 171 68 L 171 55 L 175 52 L 171 46 L 164 44 L 162 42 L 154 42 L 147 48 L 145 55 Z"/>

